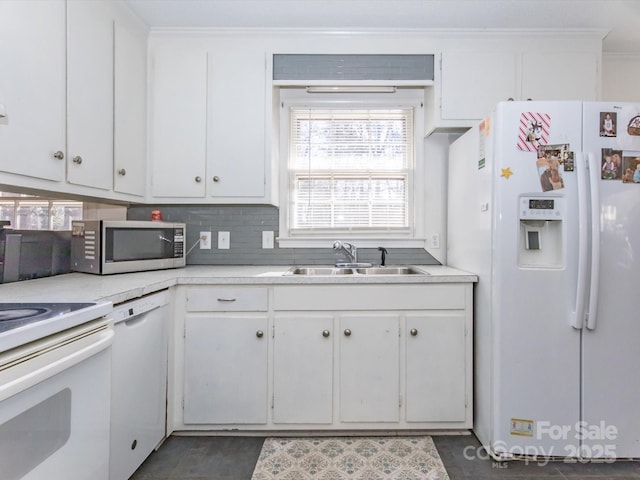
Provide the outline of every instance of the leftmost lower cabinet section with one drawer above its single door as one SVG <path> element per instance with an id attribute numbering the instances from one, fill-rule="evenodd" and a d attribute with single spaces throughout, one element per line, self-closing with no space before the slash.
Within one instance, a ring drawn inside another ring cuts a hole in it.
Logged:
<path id="1" fill-rule="evenodd" d="M 267 423 L 267 289 L 191 287 L 184 325 L 184 423 Z"/>

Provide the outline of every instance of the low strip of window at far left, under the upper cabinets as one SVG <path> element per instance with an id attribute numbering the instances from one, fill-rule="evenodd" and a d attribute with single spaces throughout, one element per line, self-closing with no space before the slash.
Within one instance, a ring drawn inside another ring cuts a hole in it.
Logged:
<path id="1" fill-rule="evenodd" d="M 82 202 L 0 192 L 0 220 L 16 230 L 71 230 L 82 219 Z"/>

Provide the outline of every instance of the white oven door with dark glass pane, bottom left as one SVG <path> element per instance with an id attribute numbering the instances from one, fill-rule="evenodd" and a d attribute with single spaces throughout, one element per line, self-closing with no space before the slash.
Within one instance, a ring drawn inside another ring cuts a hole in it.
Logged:
<path id="1" fill-rule="evenodd" d="M 108 478 L 113 327 L 79 329 L 0 355 L 3 480 Z"/>

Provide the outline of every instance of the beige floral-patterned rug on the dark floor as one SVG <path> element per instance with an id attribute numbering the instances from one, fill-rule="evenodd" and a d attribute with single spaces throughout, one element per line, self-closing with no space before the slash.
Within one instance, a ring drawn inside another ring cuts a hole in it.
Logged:
<path id="1" fill-rule="evenodd" d="M 251 480 L 449 480 L 431 437 L 266 438 Z"/>

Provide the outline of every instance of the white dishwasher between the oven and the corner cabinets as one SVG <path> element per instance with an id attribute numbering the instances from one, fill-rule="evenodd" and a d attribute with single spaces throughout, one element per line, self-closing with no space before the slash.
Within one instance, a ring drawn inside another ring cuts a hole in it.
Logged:
<path id="1" fill-rule="evenodd" d="M 165 437 L 169 291 L 115 305 L 109 479 L 126 480 Z"/>

